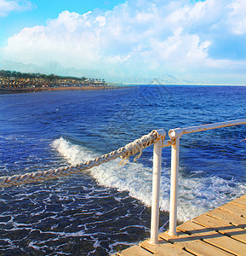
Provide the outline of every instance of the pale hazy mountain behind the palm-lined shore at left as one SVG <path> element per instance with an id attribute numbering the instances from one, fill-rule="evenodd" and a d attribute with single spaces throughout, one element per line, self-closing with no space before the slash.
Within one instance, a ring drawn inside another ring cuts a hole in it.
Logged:
<path id="1" fill-rule="evenodd" d="M 21 73 L 54 73 L 60 76 L 72 76 L 77 78 L 104 78 L 103 74 L 99 70 L 77 69 L 75 67 L 63 67 L 57 62 L 48 62 L 43 66 L 37 66 L 35 64 L 24 64 L 22 62 L 15 61 L 0 61 L 0 69 L 7 69 L 10 71 L 18 71 Z"/>

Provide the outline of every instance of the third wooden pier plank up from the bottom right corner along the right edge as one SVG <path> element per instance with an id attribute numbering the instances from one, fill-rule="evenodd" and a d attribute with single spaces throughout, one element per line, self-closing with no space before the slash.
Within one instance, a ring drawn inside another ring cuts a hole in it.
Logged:
<path id="1" fill-rule="evenodd" d="M 215 209 L 207 212 L 206 214 L 214 218 L 222 219 L 228 223 L 232 223 L 233 225 L 236 225 L 243 229 L 246 227 L 246 218 L 237 217 L 237 215 L 230 212 L 224 212 L 219 209 Z"/>

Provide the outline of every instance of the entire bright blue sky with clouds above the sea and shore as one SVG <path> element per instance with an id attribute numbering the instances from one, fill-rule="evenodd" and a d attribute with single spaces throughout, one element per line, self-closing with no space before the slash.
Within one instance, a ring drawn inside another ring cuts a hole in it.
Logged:
<path id="1" fill-rule="evenodd" d="M 0 69 L 246 84 L 245 0 L 0 0 Z"/>

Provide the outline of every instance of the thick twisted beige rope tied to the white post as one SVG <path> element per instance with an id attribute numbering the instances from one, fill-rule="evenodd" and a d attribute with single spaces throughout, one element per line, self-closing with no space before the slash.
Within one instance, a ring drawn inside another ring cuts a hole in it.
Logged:
<path id="1" fill-rule="evenodd" d="M 152 131 L 148 135 L 140 137 L 135 140 L 133 143 L 129 143 L 122 148 L 118 148 L 117 150 L 112 151 L 109 154 L 103 154 L 100 157 L 94 158 L 94 160 L 85 161 L 82 164 L 78 164 L 75 166 L 66 166 L 60 167 L 55 170 L 48 171 L 39 171 L 39 172 L 29 172 L 22 175 L 14 175 L 10 177 L 0 177 L 0 187 L 10 187 L 10 186 L 18 186 L 25 183 L 35 183 L 41 182 L 44 180 L 64 177 L 77 172 L 82 172 L 84 170 L 88 170 L 94 166 L 100 166 L 103 163 L 106 163 L 110 160 L 117 159 L 121 157 L 125 162 L 129 160 L 130 155 L 137 154 L 138 152 L 142 152 L 143 148 L 149 147 L 152 143 L 154 143 L 157 139 L 157 131 Z M 137 155 L 134 160 L 140 157 L 140 154 Z"/>

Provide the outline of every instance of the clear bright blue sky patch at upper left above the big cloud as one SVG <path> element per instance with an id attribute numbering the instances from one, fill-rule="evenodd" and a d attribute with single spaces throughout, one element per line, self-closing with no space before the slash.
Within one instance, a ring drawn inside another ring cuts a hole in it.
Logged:
<path id="1" fill-rule="evenodd" d="M 4 4 L 5 3 L 5 4 Z M 5 7 L 9 3 L 17 3 L 12 8 Z M 33 0 L 33 1 L 6 1 L 0 0 L 0 46 L 7 44 L 7 40 L 14 33 L 20 32 L 25 27 L 45 25 L 46 20 L 56 19 L 58 15 L 68 10 L 80 14 L 88 11 L 106 11 L 113 9 L 115 5 L 124 3 L 121 0 L 100 1 L 100 0 Z M 2 7 L 2 8 L 1 8 Z M 2 9 L 2 15 L 1 15 Z M 4 19 L 3 19 L 4 18 Z"/>

